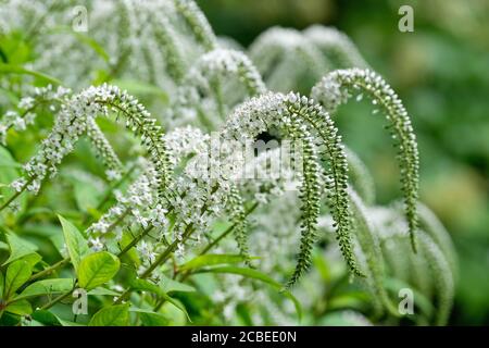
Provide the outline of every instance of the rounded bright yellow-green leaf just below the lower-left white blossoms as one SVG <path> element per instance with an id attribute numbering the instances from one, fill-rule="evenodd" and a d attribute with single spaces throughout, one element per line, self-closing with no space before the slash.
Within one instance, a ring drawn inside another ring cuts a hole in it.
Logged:
<path id="1" fill-rule="evenodd" d="M 106 251 L 86 256 L 78 268 L 78 284 L 86 290 L 105 284 L 117 273 L 121 262 Z"/>

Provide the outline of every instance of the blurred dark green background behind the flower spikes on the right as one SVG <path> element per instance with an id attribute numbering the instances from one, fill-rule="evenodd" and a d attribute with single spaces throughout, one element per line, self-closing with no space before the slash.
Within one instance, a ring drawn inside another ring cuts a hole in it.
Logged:
<path id="1" fill-rule="evenodd" d="M 422 199 L 450 231 L 460 257 L 451 324 L 489 324 L 489 1 L 200 0 L 217 35 L 243 46 L 271 26 L 319 23 L 347 33 L 404 101 L 418 136 Z M 414 33 L 401 33 L 402 4 Z M 378 201 L 399 192 L 398 173 L 367 105 L 338 124 L 369 164 Z M 360 114 L 360 115 L 359 115 Z M 398 196 L 399 197 L 399 196 Z"/>

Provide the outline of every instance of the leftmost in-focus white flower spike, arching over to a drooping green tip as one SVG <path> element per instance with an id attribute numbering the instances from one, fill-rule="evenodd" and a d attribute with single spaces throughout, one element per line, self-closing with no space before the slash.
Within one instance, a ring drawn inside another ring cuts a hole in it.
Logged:
<path id="1" fill-rule="evenodd" d="M 141 137 L 148 157 L 156 170 L 155 182 L 160 199 L 163 199 L 164 188 L 171 182 L 164 134 L 137 99 L 115 86 L 108 85 L 90 87 L 71 97 L 68 102 L 62 105 L 51 133 L 24 166 L 28 179 L 21 178 L 23 185 L 20 185 L 18 181 L 14 182 L 17 191 L 26 188 L 37 191 L 48 174 L 55 175 L 63 158 L 73 150 L 79 136 L 87 132 L 87 125 L 99 115 L 108 116 L 111 111 L 123 116 L 126 127 Z"/>

